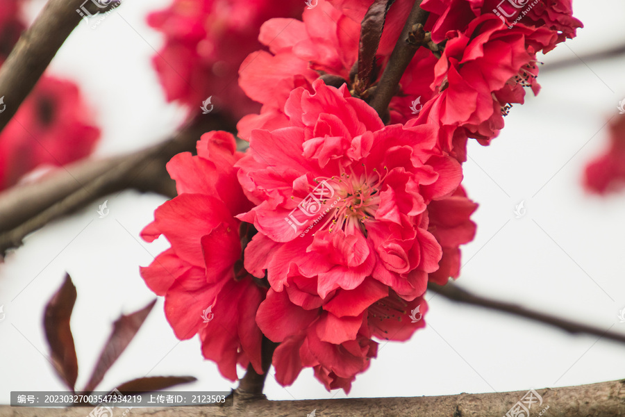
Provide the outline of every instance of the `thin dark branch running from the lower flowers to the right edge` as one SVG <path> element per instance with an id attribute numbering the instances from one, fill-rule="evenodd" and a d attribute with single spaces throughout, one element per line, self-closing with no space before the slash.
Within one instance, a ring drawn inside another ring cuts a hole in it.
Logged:
<path id="1" fill-rule="evenodd" d="M 599 329 L 597 327 L 592 327 L 589 325 L 584 325 L 582 323 L 558 318 L 556 316 L 551 316 L 549 314 L 540 313 L 538 311 L 529 310 L 523 306 L 518 306 L 516 304 L 492 300 L 490 298 L 474 295 L 472 293 L 469 293 L 469 291 L 466 291 L 465 289 L 456 286 L 456 284 L 453 284 L 452 282 L 449 282 L 445 286 L 430 283 L 428 284 L 428 290 L 440 294 L 443 297 L 448 298 L 449 300 L 465 304 L 471 304 L 474 306 L 480 306 L 484 307 L 485 309 L 503 311 L 504 313 L 510 313 L 514 316 L 524 317 L 530 320 L 541 322 L 545 325 L 558 327 L 558 329 L 565 330 L 566 332 L 572 334 L 592 334 L 593 336 L 600 336 L 601 338 L 610 341 L 625 343 L 625 335 L 623 334 L 608 332 L 605 329 Z"/>

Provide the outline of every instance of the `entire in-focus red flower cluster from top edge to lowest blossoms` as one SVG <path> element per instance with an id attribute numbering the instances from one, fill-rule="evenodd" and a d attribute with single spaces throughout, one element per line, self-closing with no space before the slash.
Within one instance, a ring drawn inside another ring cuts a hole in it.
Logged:
<path id="1" fill-rule="evenodd" d="M 240 88 L 262 105 L 238 122 L 247 150 L 211 132 L 197 156 L 168 165 L 178 197 L 144 238 L 163 234 L 172 247 L 142 275 L 165 295 L 176 335 L 199 334 L 230 379 L 237 362 L 260 371 L 263 335 L 278 343 L 278 382 L 313 368 L 328 390 L 347 392 L 376 340 L 406 341 L 425 326 L 428 283 L 458 277 L 460 245 L 476 231 L 461 185 L 467 140 L 497 136 L 524 88 L 538 91 L 536 54 L 581 26 L 567 0 L 520 19 L 490 0 L 424 0 L 432 42 L 380 116 L 369 101 L 414 1 L 392 3 L 374 49 L 360 25 L 372 3 L 319 0 L 301 20 L 267 20 L 267 49 L 239 69 Z M 376 58 L 363 83 L 365 47 Z M 215 320 L 204 323 L 208 306 Z"/>

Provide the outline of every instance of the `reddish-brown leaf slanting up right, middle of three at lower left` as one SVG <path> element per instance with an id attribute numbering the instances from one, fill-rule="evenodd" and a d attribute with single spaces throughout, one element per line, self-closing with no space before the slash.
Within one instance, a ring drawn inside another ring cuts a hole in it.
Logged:
<path id="1" fill-rule="evenodd" d="M 100 358 L 97 361 L 87 386 L 85 386 L 85 393 L 91 393 L 102 381 L 106 372 L 113 366 L 113 363 L 117 361 L 117 358 L 124 352 L 128 344 L 131 343 L 133 337 L 135 337 L 135 334 L 137 334 L 145 318 L 154 306 L 154 303 L 156 303 L 156 300 L 143 309 L 135 311 L 135 313 L 129 314 L 128 316 L 122 315 L 122 317 L 117 319 L 113 324 L 113 332 L 110 334 L 100 354 Z"/>

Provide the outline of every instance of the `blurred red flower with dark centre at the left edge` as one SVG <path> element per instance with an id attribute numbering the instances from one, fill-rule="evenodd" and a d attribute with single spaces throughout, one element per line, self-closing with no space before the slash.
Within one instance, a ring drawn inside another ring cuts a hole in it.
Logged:
<path id="1" fill-rule="evenodd" d="M 10 97 L 2 106 L 10 106 Z M 78 87 L 43 76 L 0 133 L 0 190 L 38 165 L 64 165 L 88 156 L 100 130 Z"/>

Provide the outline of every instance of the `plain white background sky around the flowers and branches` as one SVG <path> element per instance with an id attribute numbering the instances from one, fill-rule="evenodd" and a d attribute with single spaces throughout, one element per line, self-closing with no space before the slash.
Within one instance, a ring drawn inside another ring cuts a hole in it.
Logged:
<path id="1" fill-rule="evenodd" d="M 53 60 L 50 72 L 76 80 L 97 115 L 103 129 L 99 156 L 163 140 L 183 119 L 181 108 L 166 104 L 151 69 L 163 38 L 144 23 L 150 10 L 166 3 L 125 1 L 97 29 L 81 25 Z M 42 1 L 33 1 L 26 18 L 32 20 L 41 7 Z M 617 318 L 625 307 L 625 193 L 600 198 L 581 188 L 583 166 L 606 147 L 605 124 L 625 98 L 625 57 L 547 71 L 550 62 L 624 39 L 625 3 L 576 0 L 574 8 L 585 28 L 540 58 L 546 63 L 540 95 L 512 109 L 490 147 L 469 145 L 464 183 L 480 204 L 473 217 L 478 233 L 464 247 L 458 283 L 625 334 Z M 92 204 L 29 236 L 0 264 L 0 305 L 6 312 L 0 322 L 0 403 L 9 402 L 10 391 L 64 389 L 46 359 L 42 314 L 65 271 L 78 290 L 72 329 L 79 388 L 111 323 L 122 311 L 153 300 L 138 265 L 148 265 L 167 242 L 148 245 L 138 234 L 165 199 L 131 191 L 107 198 L 108 217 L 96 213 L 101 202 Z M 517 219 L 513 211 L 521 201 L 527 213 Z M 526 390 L 625 377 L 624 345 L 430 297 L 426 329 L 408 343 L 381 343 L 378 359 L 356 378 L 350 397 Z M 203 360 L 197 338 L 174 337 L 162 299 L 100 389 L 144 375 L 199 379 L 181 389 L 235 386 Z M 275 400 L 346 396 L 328 393 L 310 370 L 287 388 L 269 376 L 265 393 Z"/>

